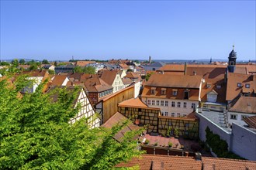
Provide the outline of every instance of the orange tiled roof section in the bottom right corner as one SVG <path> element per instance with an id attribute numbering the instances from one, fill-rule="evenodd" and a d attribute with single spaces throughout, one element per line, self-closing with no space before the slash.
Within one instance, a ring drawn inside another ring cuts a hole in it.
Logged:
<path id="1" fill-rule="evenodd" d="M 256 162 L 227 159 L 227 158 L 210 158 L 202 157 L 202 169 L 234 169 L 234 170 L 253 170 L 256 168 Z"/>

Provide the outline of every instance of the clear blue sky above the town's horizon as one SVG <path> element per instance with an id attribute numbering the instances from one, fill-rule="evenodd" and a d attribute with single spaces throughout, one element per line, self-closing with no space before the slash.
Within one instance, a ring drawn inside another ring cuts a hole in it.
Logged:
<path id="1" fill-rule="evenodd" d="M 255 1 L 1 1 L 2 59 L 255 59 Z"/>

